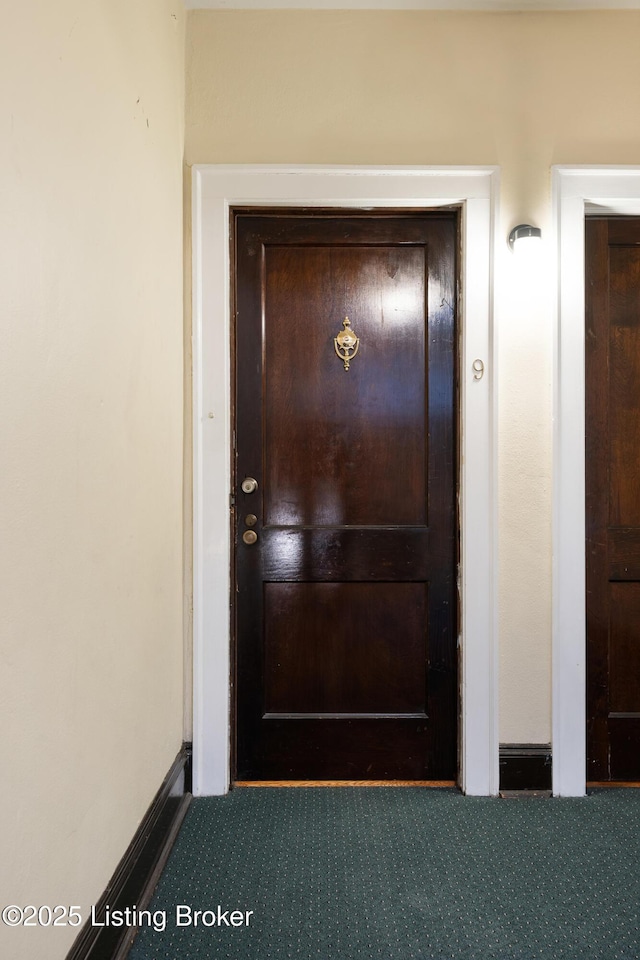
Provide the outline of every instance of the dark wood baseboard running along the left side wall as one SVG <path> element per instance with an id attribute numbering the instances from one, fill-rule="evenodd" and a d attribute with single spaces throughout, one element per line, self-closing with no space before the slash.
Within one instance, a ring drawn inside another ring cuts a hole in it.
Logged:
<path id="1" fill-rule="evenodd" d="M 145 909 L 191 802 L 191 744 L 183 744 L 135 836 L 95 906 L 100 922 L 111 912 L 136 906 Z M 67 960 L 123 960 L 136 927 L 83 925 Z"/>

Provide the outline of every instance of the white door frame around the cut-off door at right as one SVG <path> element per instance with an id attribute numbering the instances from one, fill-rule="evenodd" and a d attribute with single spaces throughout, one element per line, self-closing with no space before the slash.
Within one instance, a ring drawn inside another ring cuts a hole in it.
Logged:
<path id="1" fill-rule="evenodd" d="M 586 781 L 584 217 L 637 215 L 640 167 L 553 168 L 558 284 L 554 344 L 553 792 Z"/>

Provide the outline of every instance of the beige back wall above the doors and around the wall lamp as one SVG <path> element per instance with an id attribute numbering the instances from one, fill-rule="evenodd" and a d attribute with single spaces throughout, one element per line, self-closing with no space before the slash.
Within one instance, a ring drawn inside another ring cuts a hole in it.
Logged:
<path id="1" fill-rule="evenodd" d="M 550 234 L 554 163 L 640 162 L 640 13 L 199 11 L 187 163 L 498 164 Z M 500 245 L 500 736 L 550 739 L 550 270 Z"/>

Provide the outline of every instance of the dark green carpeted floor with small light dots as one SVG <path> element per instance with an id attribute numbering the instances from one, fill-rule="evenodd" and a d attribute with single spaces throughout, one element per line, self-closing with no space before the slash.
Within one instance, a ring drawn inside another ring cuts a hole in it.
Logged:
<path id="1" fill-rule="evenodd" d="M 192 803 L 129 960 L 638 960 L 639 907 L 640 790 L 237 789 Z"/>

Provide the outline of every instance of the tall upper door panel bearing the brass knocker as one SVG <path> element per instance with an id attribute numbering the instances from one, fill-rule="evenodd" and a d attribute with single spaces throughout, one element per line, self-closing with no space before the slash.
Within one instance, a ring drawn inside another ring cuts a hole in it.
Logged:
<path id="1" fill-rule="evenodd" d="M 425 252 L 266 249 L 265 523 L 426 522 L 425 346 L 415 319 L 424 313 Z M 362 353 L 348 371 L 333 344 L 344 316 L 366 318 L 355 326 Z M 328 405 L 331 416 L 319 419 Z M 301 455 L 292 459 L 291 449 Z M 366 483 L 357 482 L 363 462 Z"/>

